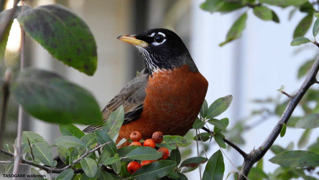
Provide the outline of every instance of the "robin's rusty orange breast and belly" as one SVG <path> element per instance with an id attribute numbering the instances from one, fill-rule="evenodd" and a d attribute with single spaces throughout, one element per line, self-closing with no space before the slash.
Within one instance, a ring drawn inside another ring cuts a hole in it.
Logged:
<path id="1" fill-rule="evenodd" d="M 118 140 L 129 138 L 133 131 L 141 132 L 143 139 L 152 138 L 156 131 L 184 136 L 200 111 L 207 88 L 204 76 L 188 65 L 154 72 L 148 78 L 142 114 L 121 127 Z"/>

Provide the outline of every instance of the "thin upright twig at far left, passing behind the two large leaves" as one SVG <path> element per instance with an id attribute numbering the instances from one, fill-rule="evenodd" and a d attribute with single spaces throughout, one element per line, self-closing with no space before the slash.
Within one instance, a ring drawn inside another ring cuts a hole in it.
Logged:
<path id="1" fill-rule="evenodd" d="M 21 1 L 22 8 L 21 12 L 24 11 L 23 0 Z M 25 32 L 22 27 L 21 28 L 21 49 L 20 49 L 20 70 L 23 70 L 24 66 L 24 45 L 25 45 Z M 19 164 L 21 160 L 21 139 L 22 139 L 22 119 L 23 119 L 23 108 L 19 105 L 19 113 L 18 113 L 18 132 L 17 132 L 17 153 L 14 157 L 14 165 L 13 165 L 13 174 L 18 174 L 19 172 Z M 13 177 L 12 180 L 16 180 L 17 177 Z"/>

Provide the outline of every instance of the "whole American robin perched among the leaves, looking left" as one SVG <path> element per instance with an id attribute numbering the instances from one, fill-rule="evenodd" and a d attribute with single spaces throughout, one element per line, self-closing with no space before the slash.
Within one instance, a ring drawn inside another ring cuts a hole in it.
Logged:
<path id="1" fill-rule="evenodd" d="M 141 132 L 144 140 L 152 138 L 156 131 L 184 136 L 200 111 L 208 82 L 182 39 L 163 28 L 117 39 L 137 47 L 146 66 L 102 111 L 106 121 L 119 106 L 124 108 L 125 120 L 116 143 L 130 138 L 133 131 Z M 99 128 L 91 125 L 83 131 L 90 133 Z"/>

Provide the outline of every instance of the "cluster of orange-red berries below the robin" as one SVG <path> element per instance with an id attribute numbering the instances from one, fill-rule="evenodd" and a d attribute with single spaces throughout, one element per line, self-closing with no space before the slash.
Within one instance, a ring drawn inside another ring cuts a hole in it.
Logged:
<path id="1" fill-rule="evenodd" d="M 146 139 L 144 142 L 140 143 L 140 141 L 142 139 L 142 134 L 138 131 L 134 131 L 130 135 L 130 139 L 131 139 L 131 141 L 133 141 L 130 145 L 142 146 L 142 143 L 143 143 L 143 146 L 149 146 L 149 147 L 155 148 L 155 143 L 161 143 L 163 141 L 163 133 L 162 132 L 154 132 L 152 135 L 152 139 Z M 162 153 L 162 157 L 159 158 L 158 160 L 167 159 L 169 152 L 168 152 L 168 149 L 166 147 L 161 147 L 157 151 Z M 127 170 L 131 174 L 133 174 L 138 168 L 140 168 L 148 163 L 151 163 L 153 161 L 157 161 L 157 160 L 143 160 L 143 161 L 141 161 L 140 164 L 136 161 L 132 161 L 127 165 Z"/>

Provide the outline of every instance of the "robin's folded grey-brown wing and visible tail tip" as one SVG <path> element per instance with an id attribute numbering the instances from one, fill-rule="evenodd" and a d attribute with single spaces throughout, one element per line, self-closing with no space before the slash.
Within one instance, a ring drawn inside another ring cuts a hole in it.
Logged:
<path id="1" fill-rule="evenodd" d="M 137 118 L 143 111 L 143 102 L 145 99 L 145 87 L 148 74 L 144 74 L 144 69 L 105 106 L 102 110 L 104 122 L 108 117 L 120 106 L 124 108 L 124 123 Z M 124 124 L 123 123 L 123 124 Z M 95 129 L 100 129 L 102 126 L 90 125 L 83 132 L 91 133 Z"/>

